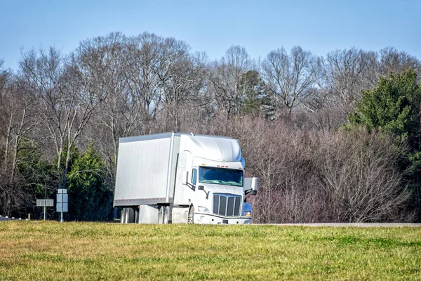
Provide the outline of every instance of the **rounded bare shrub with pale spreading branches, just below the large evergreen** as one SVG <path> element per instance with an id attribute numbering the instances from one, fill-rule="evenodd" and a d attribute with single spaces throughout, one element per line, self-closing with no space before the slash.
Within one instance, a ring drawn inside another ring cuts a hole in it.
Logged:
<path id="1" fill-rule="evenodd" d="M 388 136 L 363 128 L 340 130 L 318 152 L 320 185 L 335 221 L 413 221 L 410 192 L 397 167 L 399 150 Z"/>

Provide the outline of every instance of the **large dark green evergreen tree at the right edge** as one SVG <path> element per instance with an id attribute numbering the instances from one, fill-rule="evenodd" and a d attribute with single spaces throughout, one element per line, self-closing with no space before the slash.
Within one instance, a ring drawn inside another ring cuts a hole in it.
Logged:
<path id="1" fill-rule="evenodd" d="M 374 89 L 364 91 L 349 122 L 365 126 L 368 131 L 392 133 L 398 141 L 408 143 L 409 152 L 403 152 L 403 170 L 410 172 L 420 206 L 421 176 L 421 86 L 414 70 L 380 77 Z"/>

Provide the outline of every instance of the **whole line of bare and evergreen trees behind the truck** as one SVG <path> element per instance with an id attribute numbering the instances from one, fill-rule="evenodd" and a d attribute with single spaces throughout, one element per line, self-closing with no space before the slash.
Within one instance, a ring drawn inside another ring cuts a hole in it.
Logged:
<path id="1" fill-rule="evenodd" d="M 239 139 L 256 223 L 421 219 L 421 62 L 406 52 L 231 46 L 209 60 L 110 33 L 18 65 L 0 63 L 3 215 L 38 218 L 36 199 L 67 188 L 67 219 L 110 220 L 119 138 L 194 131 Z"/>

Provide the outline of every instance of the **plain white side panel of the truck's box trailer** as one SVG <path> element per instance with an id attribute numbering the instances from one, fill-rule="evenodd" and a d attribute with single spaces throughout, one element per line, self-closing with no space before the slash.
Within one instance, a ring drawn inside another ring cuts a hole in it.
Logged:
<path id="1" fill-rule="evenodd" d="M 172 203 L 179 136 L 121 138 L 114 206 Z"/>

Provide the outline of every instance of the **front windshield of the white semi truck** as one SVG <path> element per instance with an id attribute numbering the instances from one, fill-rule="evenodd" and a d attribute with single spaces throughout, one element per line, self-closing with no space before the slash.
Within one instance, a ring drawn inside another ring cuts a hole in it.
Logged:
<path id="1" fill-rule="evenodd" d="M 201 166 L 199 167 L 199 182 L 243 186 L 243 171 Z"/>

